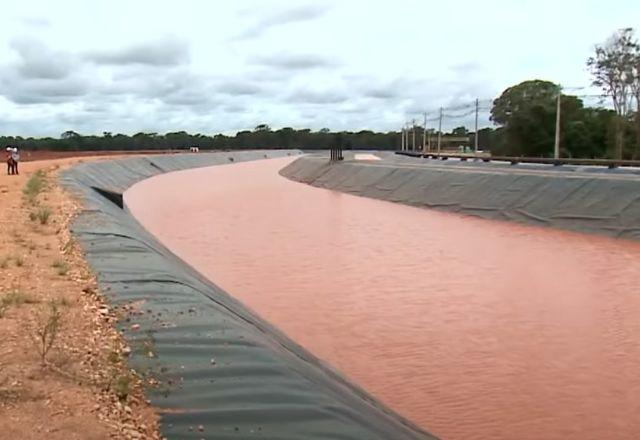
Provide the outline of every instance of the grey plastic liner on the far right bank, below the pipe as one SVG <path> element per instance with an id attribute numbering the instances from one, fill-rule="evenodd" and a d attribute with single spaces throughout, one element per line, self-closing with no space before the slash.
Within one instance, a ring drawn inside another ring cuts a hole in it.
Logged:
<path id="1" fill-rule="evenodd" d="M 412 206 L 640 239 L 638 170 L 383 157 L 377 162 L 330 163 L 325 157 L 304 156 L 280 174 Z"/>

